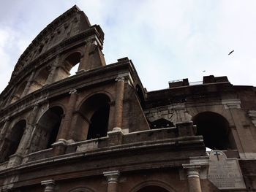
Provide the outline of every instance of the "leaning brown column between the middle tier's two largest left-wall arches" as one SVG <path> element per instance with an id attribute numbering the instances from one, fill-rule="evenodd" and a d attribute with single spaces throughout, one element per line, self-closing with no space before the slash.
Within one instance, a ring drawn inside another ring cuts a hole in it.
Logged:
<path id="1" fill-rule="evenodd" d="M 68 134 L 70 132 L 70 126 L 72 123 L 72 115 L 75 110 L 75 103 L 78 98 L 78 93 L 77 93 L 77 90 L 74 89 L 72 91 L 69 91 L 69 94 L 70 94 L 69 103 L 67 104 L 67 111 L 64 116 L 64 119 L 61 122 L 61 127 L 60 127 L 59 134 L 57 137 L 58 140 L 59 139 L 65 139 L 65 140 L 71 139 L 71 138 L 69 138 Z"/>

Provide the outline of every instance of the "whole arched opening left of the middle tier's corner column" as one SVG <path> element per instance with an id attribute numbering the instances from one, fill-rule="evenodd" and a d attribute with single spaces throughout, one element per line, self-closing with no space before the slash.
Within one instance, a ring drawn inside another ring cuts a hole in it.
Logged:
<path id="1" fill-rule="evenodd" d="M 107 136 L 109 102 L 109 97 L 102 93 L 91 96 L 83 102 L 77 122 L 77 127 L 82 128 L 83 136 L 80 137 L 81 140 Z"/>

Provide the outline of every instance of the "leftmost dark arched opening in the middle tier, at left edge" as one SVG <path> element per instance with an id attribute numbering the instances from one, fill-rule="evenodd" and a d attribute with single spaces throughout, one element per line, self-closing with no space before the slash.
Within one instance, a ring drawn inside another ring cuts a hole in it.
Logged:
<path id="1" fill-rule="evenodd" d="M 7 161 L 10 155 L 13 155 L 16 152 L 25 128 L 26 120 L 20 120 L 18 123 L 15 123 L 15 126 L 13 126 L 10 132 L 7 133 L 1 147 L 0 162 Z"/>

